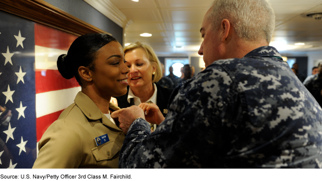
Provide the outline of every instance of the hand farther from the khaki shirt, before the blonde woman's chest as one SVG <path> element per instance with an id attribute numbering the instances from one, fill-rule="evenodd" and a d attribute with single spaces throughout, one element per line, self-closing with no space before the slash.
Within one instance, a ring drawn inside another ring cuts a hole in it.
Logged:
<path id="1" fill-rule="evenodd" d="M 159 125 L 164 121 L 164 117 L 156 104 L 141 103 L 139 107 L 146 113 L 145 118 L 148 122 Z"/>

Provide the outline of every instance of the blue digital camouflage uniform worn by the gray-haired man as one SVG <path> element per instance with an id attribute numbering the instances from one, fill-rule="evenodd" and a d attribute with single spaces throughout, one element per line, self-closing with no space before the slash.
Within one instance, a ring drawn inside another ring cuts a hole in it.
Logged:
<path id="1" fill-rule="evenodd" d="M 119 168 L 321 168 L 321 121 L 321 107 L 277 50 L 260 47 L 176 87 L 153 133 L 136 119 Z"/>

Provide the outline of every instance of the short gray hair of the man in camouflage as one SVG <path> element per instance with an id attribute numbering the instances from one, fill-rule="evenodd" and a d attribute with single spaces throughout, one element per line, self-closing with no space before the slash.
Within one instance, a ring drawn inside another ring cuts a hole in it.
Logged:
<path id="1" fill-rule="evenodd" d="M 208 19 L 214 28 L 228 19 L 239 38 L 270 42 L 275 29 L 275 14 L 268 0 L 214 0 Z"/>

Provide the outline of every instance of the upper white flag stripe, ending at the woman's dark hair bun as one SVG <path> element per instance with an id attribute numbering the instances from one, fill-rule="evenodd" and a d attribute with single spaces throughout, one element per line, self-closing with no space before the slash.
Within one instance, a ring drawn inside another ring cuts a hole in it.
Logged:
<path id="1" fill-rule="evenodd" d="M 57 70 L 57 59 L 61 54 L 67 54 L 67 51 L 41 47 L 36 45 L 35 46 L 36 69 Z"/>

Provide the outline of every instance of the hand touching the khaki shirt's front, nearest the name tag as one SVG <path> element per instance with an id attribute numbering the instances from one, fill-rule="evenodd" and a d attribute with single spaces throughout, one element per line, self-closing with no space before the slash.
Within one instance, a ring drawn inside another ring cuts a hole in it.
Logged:
<path id="1" fill-rule="evenodd" d="M 145 119 L 143 110 L 137 106 L 131 106 L 129 108 L 114 111 L 110 115 L 110 117 L 113 119 L 118 119 L 118 121 L 120 122 L 119 126 L 125 134 L 127 134 L 130 125 L 133 123 L 135 119 Z"/>

